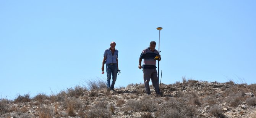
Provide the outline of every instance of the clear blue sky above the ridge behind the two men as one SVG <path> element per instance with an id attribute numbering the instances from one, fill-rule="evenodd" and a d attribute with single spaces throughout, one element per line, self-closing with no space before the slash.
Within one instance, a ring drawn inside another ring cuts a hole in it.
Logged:
<path id="1" fill-rule="evenodd" d="M 162 83 L 255 83 L 255 0 L 1 0 L 0 98 L 58 93 L 101 74 L 116 42 L 116 87 L 143 82 L 139 55 L 156 41 Z"/>

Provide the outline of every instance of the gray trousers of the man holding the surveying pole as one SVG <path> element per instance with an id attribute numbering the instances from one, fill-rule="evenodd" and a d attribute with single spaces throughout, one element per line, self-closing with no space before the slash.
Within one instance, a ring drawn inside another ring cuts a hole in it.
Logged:
<path id="1" fill-rule="evenodd" d="M 159 90 L 159 81 L 157 78 L 157 71 L 156 69 L 143 69 L 143 79 L 144 79 L 144 85 L 146 89 L 146 93 L 150 94 L 150 89 L 149 89 L 149 81 L 152 81 L 152 85 L 154 86 L 154 89 L 156 93 L 158 93 Z"/>

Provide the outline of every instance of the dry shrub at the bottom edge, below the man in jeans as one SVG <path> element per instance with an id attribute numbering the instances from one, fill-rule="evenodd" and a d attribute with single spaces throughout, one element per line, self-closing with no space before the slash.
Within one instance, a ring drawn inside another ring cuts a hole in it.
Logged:
<path id="1" fill-rule="evenodd" d="M 87 118 L 111 118 L 112 112 L 107 109 L 107 102 L 98 102 L 87 112 Z"/>

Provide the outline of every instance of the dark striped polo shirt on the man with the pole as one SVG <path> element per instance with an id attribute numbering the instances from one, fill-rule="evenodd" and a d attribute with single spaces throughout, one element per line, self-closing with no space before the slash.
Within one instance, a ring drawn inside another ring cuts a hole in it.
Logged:
<path id="1" fill-rule="evenodd" d="M 154 59 L 159 52 L 155 49 L 154 52 L 150 48 L 143 49 L 139 59 L 144 59 L 143 69 L 156 69 L 156 60 Z"/>

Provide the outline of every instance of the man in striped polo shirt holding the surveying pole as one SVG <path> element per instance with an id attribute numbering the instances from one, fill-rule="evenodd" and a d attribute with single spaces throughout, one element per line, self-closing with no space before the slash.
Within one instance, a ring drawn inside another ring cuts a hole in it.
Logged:
<path id="1" fill-rule="evenodd" d="M 146 94 L 151 94 L 149 89 L 150 78 L 156 94 L 159 94 L 159 83 L 158 83 L 159 81 L 157 78 L 156 60 L 160 61 L 161 56 L 155 48 L 156 48 L 156 42 L 151 41 L 149 44 L 149 47 L 146 49 L 143 49 L 141 56 L 139 57 L 139 69 L 143 68 L 143 79 L 144 79 Z M 155 58 L 156 56 L 159 56 L 158 59 Z M 142 59 L 144 59 L 143 66 L 141 66 Z"/>

